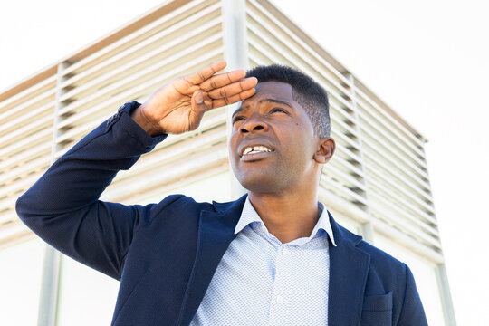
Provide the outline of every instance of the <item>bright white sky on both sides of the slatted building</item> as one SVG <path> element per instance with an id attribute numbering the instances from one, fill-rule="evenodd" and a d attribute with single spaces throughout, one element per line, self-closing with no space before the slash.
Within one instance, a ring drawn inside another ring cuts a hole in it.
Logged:
<path id="1" fill-rule="evenodd" d="M 160 2 L 0 3 L 0 90 Z M 486 323 L 487 1 L 275 3 L 429 139 L 428 168 L 457 321 L 460 325 Z"/>

